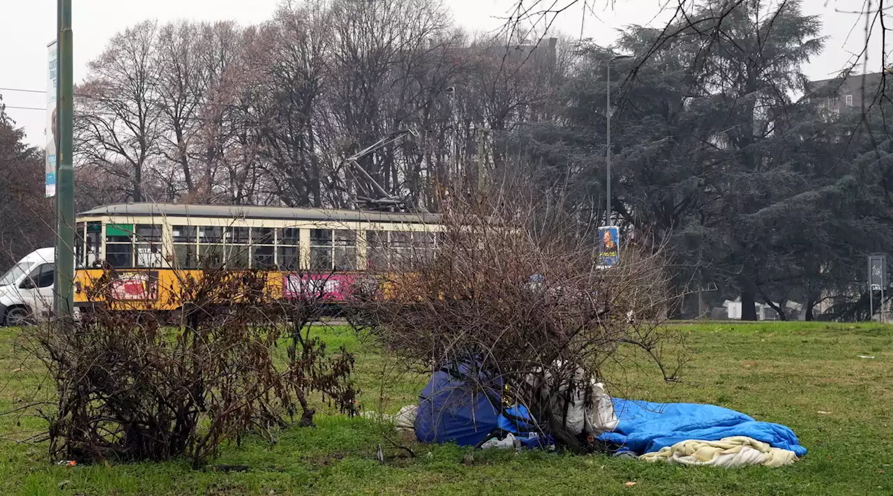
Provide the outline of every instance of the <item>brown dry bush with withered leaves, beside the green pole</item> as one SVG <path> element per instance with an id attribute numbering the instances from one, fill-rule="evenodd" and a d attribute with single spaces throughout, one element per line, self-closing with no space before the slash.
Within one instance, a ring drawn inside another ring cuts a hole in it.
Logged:
<path id="1" fill-rule="evenodd" d="M 31 349 L 55 381 L 50 456 L 95 462 L 188 456 L 198 467 L 221 443 L 271 434 L 320 392 L 353 413 L 354 357 L 327 353 L 309 334 L 305 305 L 274 298 L 269 273 L 208 268 L 182 281 L 177 322 L 137 311 L 97 309 L 71 332 L 35 327 Z M 109 297 L 108 285 L 93 287 Z M 98 295 L 94 295 L 95 297 Z M 289 320 L 289 317 L 303 320 Z M 288 342 L 291 340 L 291 342 Z M 281 342 L 288 357 L 276 357 Z"/>

